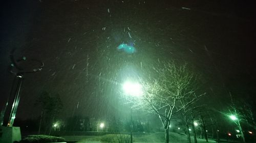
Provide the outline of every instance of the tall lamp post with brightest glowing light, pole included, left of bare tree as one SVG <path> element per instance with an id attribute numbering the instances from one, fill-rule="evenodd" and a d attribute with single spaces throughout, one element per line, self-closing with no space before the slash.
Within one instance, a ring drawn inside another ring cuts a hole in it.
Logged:
<path id="1" fill-rule="evenodd" d="M 143 94 L 142 86 L 138 82 L 126 81 L 123 84 L 123 90 L 124 90 L 125 95 L 131 96 L 132 99 L 134 99 L 134 97 L 139 97 Z M 133 143 L 133 110 L 132 110 L 132 104 L 131 104 L 131 143 Z"/>

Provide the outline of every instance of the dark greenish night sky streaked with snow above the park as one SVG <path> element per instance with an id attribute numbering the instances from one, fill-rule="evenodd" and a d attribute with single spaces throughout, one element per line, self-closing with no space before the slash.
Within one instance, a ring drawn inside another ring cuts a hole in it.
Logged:
<path id="1" fill-rule="evenodd" d="M 129 65 L 142 63 L 137 74 L 144 76 L 157 59 L 193 65 L 211 105 L 228 101 L 228 92 L 255 103 L 252 2 L 27 0 L 1 7 L 0 108 L 14 78 L 10 51 L 45 63 L 41 72 L 25 75 L 17 118 L 38 116 L 33 106 L 42 91 L 61 95 L 62 116 L 72 115 L 78 102 L 77 113 L 104 115 L 121 106 L 116 92 Z M 138 52 L 116 51 L 122 42 L 134 42 Z"/>

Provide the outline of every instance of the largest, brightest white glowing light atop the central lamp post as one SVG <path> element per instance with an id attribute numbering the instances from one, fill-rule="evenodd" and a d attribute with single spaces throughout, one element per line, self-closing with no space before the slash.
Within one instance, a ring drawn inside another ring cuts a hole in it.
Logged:
<path id="1" fill-rule="evenodd" d="M 136 82 L 125 82 L 123 84 L 123 90 L 125 94 L 131 96 L 141 96 L 143 94 L 141 84 Z"/>

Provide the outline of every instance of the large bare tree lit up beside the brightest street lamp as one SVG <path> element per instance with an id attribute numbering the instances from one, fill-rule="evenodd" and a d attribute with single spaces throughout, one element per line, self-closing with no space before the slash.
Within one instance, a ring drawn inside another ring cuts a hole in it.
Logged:
<path id="1" fill-rule="evenodd" d="M 165 130 L 165 142 L 168 143 L 169 125 L 174 113 L 197 101 L 196 89 L 193 89 L 194 86 L 191 85 L 195 83 L 197 78 L 195 74 L 188 71 L 187 64 L 176 66 L 172 62 L 163 63 L 162 65 L 162 67 L 153 68 L 157 77 L 150 78 L 149 81 L 141 81 L 144 94 L 136 105 L 158 115 Z M 180 100 L 183 99 L 186 99 L 186 102 L 181 105 Z M 179 103 L 179 106 L 176 106 L 177 103 Z"/>

